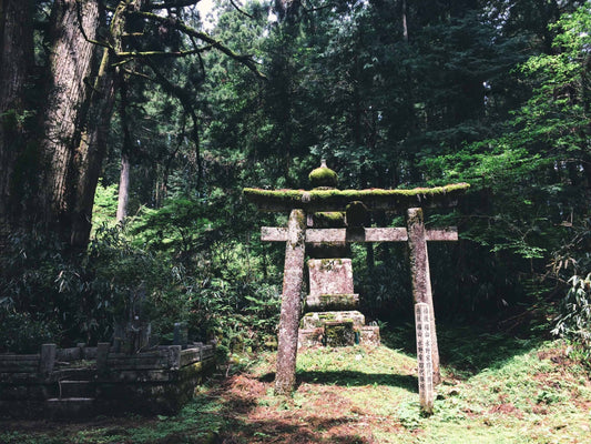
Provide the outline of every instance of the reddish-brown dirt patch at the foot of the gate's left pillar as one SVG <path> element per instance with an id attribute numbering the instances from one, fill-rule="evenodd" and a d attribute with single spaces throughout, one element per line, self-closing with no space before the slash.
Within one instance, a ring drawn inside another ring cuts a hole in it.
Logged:
<path id="1" fill-rule="evenodd" d="M 227 379 L 216 393 L 233 426 L 220 441 L 233 443 L 377 443 L 373 431 L 396 433 L 390 417 L 370 414 L 345 396 L 347 387 L 302 384 L 293 397 L 275 397 L 273 383 L 252 375 Z"/>

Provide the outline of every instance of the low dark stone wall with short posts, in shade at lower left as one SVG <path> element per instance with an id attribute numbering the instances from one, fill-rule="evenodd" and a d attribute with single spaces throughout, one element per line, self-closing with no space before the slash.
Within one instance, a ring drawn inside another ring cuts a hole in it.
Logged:
<path id="1" fill-rule="evenodd" d="M 118 353 L 109 343 L 39 354 L 0 354 L 0 417 L 82 418 L 133 412 L 171 414 L 215 369 L 214 344 Z"/>

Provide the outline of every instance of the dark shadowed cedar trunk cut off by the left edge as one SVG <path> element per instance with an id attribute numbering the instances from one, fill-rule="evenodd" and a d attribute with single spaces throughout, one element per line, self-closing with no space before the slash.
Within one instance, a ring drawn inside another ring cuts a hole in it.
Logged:
<path id="1" fill-rule="evenodd" d="M 0 250 L 10 225 L 20 219 L 13 200 L 24 185 L 19 179 L 28 175 L 19 174 L 16 163 L 23 163 L 30 137 L 23 127 L 23 92 L 33 63 L 31 14 L 28 1 L 0 1 Z"/>

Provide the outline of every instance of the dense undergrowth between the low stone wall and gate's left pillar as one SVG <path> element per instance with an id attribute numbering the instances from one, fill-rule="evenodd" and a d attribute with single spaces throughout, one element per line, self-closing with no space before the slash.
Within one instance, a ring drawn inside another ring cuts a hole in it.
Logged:
<path id="1" fill-rule="evenodd" d="M 215 339 L 221 352 L 273 342 L 281 299 L 273 268 L 261 273 L 248 249 L 222 231 L 200 232 L 197 249 L 139 231 L 103 225 L 85 251 L 13 235 L 0 270 L 0 352 L 111 341 L 139 312 L 153 344 L 171 343 L 176 322 L 186 323 L 190 341 Z M 151 242 L 141 242 L 146 235 Z"/>

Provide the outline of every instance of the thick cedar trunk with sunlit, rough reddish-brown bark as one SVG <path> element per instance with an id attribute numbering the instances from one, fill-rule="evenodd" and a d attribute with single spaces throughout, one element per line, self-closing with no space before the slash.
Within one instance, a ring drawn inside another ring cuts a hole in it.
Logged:
<path id="1" fill-rule="evenodd" d="M 80 8 L 80 9 L 79 9 Z M 80 19 L 80 20 L 79 20 Z M 39 209 L 41 222 L 70 241 L 78 178 L 83 174 L 80 152 L 86 119 L 89 88 L 95 46 L 99 8 L 95 1 L 61 0 L 52 11 L 51 84 L 43 118 L 42 176 Z"/>

